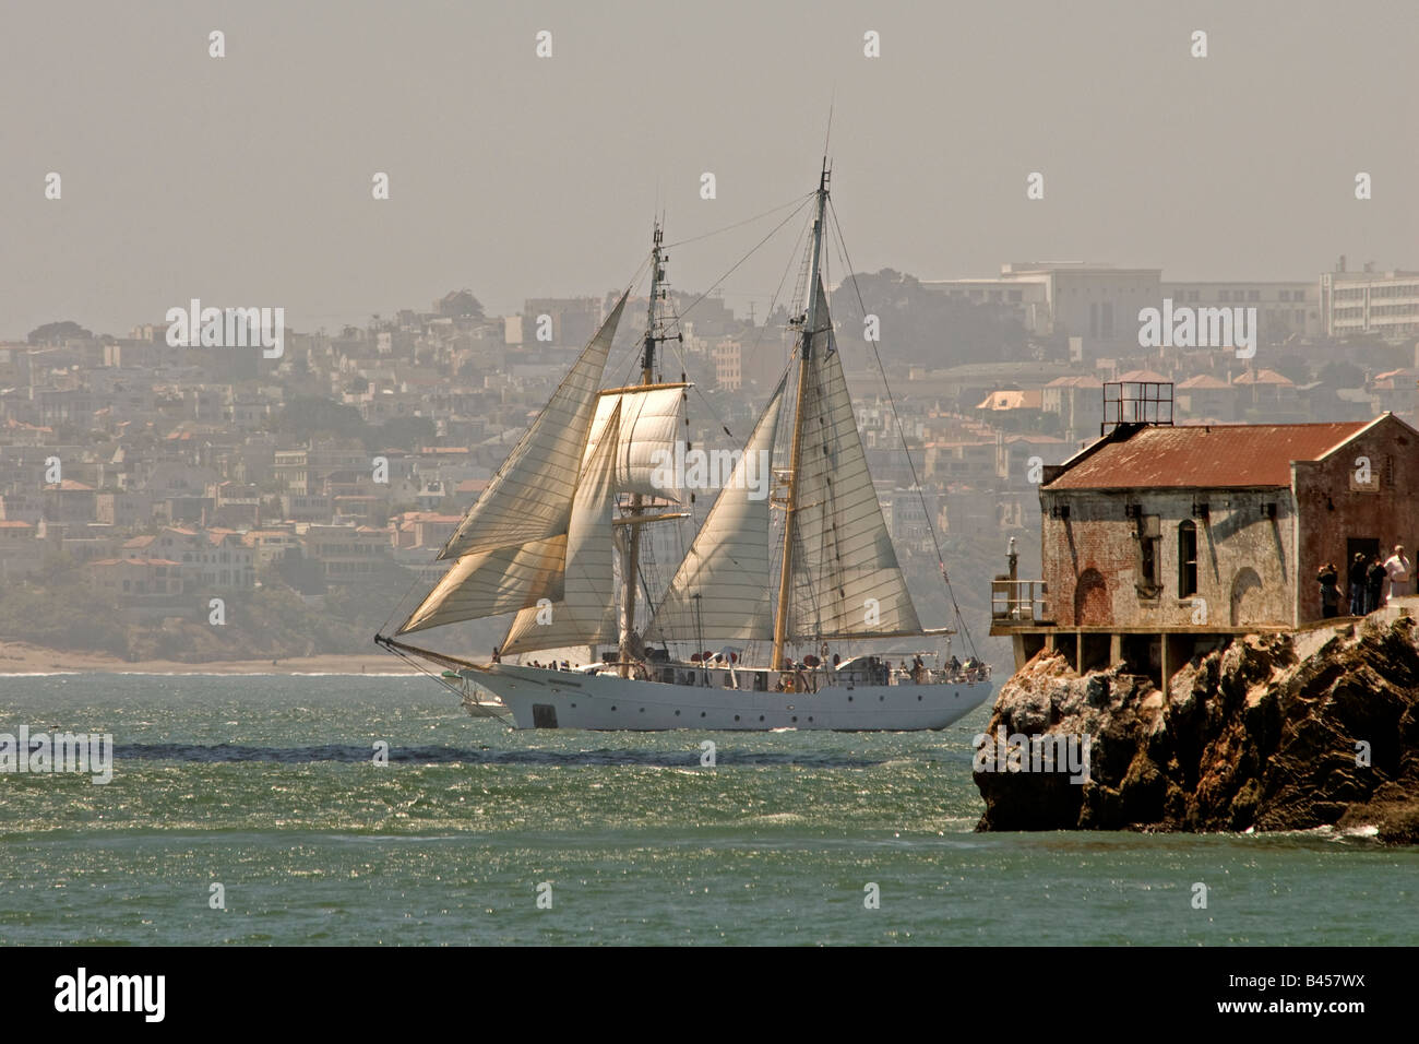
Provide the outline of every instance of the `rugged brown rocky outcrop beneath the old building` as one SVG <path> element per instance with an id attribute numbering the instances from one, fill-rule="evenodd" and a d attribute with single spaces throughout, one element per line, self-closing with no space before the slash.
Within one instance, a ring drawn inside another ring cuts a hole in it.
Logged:
<path id="1" fill-rule="evenodd" d="M 1087 778 L 1032 763 L 1036 736 L 1087 739 Z M 1174 675 L 1168 699 L 1127 665 L 1077 675 L 1042 653 L 1000 690 L 975 781 L 982 831 L 1334 825 L 1419 844 L 1419 628 L 1239 638 Z"/>

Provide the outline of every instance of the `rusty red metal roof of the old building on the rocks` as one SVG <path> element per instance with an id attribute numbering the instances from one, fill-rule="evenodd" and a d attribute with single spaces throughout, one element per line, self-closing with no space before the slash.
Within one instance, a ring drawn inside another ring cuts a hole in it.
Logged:
<path id="1" fill-rule="evenodd" d="M 1293 460 L 1320 460 L 1371 423 L 1142 428 L 1101 446 L 1046 489 L 1290 486 Z"/>

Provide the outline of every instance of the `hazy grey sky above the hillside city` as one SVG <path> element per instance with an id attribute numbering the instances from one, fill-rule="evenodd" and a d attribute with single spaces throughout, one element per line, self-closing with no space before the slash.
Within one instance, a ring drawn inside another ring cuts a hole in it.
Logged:
<path id="1" fill-rule="evenodd" d="M 458 287 L 490 312 L 600 294 L 640 264 L 657 197 L 678 240 L 812 190 L 830 98 L 861 270 L 1419 268 L 1416 43 L 1409 0 L 4 0 L 0 339 L 60 318 L 126 335 L 192 297 L 304 330 Z M 671 251 L 674 284 L 772 224 Z M 797 230 L 727 281 L 732 307 L 762 314 Z"/>

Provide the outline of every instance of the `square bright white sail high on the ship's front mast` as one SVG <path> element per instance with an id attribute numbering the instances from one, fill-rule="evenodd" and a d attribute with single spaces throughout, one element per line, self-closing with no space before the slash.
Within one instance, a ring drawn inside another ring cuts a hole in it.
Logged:
<path id="1" fill-rule="evenodd" d="M 620 423 L 616 432 L 614 476 L 617 493 L 640 493 L 647 497 L 661 497 L 680 503 L 680 490 L 667 483 L 666 470 L 658 467 L 663 460 L 673 460 L 680 430 L 681 403 L 685 384 L 656 385 L 654 388 L 602 392 L 596 405 L 596 419 L 586 443 L 586 460 L 600 445 L 606 422 L 612 412 L 620 408 Z M 583 464 L 585 467 L 585 464 Z M 667 469 L 668 477 L 674 469 Z"/>

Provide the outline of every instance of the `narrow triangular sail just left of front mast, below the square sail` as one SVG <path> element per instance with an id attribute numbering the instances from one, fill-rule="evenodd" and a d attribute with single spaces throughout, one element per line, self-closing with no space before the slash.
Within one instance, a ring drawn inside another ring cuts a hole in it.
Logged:
<path id="1" fill-rule="evenodd" d="M 613 408 L 606 419 L 604 437 L 578 483 L 566 534 L 566 575 L 561 601 L 518 612 L 502 643 L 504 653 L 616 641 L 612 504 L 616 500 L 619 426 L 620 410 Z"/>

